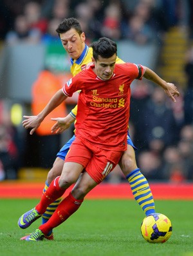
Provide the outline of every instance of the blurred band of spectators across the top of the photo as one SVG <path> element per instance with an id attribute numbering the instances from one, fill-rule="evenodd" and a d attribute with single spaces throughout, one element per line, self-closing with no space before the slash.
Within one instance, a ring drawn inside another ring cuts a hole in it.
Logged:
<path id="1" fill-rule="evenodd" d="M 185 26 L 192 38 L 191 0 L 1 0 L 0 38 L 49 43 L 65 17 L 77 17 L 87 42 L 101 36 L 138 44 L 161 41 L 170 26 Z"/>

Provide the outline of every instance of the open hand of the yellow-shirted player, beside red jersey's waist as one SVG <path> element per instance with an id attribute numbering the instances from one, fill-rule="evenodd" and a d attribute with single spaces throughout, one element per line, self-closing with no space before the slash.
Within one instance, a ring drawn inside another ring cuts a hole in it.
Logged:
<path id="1" fill-rule="evenodd" d="M 51 127 L 52 133 L 62 133 L 69 128 L 71 123 L 75 121 L 71 115 L 67 115 L 66 117 L 57 117 L 51 118 L 51 120 L 55 121 L 56 123 Z"/>

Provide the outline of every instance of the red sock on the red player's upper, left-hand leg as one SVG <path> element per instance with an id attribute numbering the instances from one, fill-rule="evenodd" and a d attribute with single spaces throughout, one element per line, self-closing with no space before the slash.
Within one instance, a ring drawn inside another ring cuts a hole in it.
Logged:
<path id="1" fill-rule="evenodd" d="M 43 214 L 44 212 L 46 212 L 46 208 L 48 207 L 48 205 L 61 197 L 66 191 L 66 189 L 59 187 L 59 178 L 60 176 L 55 178 L 51 182 L 48 190 L 46 190 L 46 192 L 42 194 L 41 201 L 39 202 L 39 204 L 37 204 L 37 206 L 35 206 L 35 209 L 37 210 L 37 212 L 39 212 L 39 214 Z"/>

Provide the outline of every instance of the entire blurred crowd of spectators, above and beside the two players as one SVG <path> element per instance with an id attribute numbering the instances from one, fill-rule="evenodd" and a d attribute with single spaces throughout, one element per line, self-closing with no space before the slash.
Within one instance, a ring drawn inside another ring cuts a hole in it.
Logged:
<path id="1" fill-rule="evenodd" d="M 192 0 L 1 0 L 0 39 L 6 44 L 60 43 L 55 29 L 65 17 L 77 17 L 87 44 L 102 36 L 136 44 L 161 44 L 172 26 L 185 29 L 189 41 L 193 39 Z M 187 84 L 183 89 L 176 84 L 181 91 L 177 103 L 145 80 L 133 84 L 129 133 L 138 148 L 138 166 L 147 179 L 193 180 L 191 44 L 185 58 Z M 1 119 L 0 181 L 17 179 L 17 170 L 23 164 L 17 131 L 12 125 L 8 127 Z M 116 168 L 109 181 L 124 181 L 120 173 Z"/>

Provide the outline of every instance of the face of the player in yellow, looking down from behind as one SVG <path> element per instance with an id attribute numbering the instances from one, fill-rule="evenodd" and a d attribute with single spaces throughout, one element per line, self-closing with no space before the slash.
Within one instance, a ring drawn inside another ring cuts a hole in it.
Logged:
<path id="1" fill-rule="evenodd" d="M 79 35 L 75 28 L 71 28 L 66 33 L 60 34 L 60 39 L 64 49 L 68 52 L 69 57 L 78 59 L 85 47 L 84 32 Z"/>

